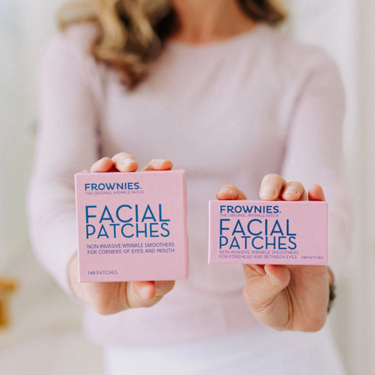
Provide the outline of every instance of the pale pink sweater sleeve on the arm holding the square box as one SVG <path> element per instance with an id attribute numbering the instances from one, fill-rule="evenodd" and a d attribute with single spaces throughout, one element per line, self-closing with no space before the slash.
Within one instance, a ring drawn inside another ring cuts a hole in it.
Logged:
<path id="1" fill-rule="evenodd" d="M 77 251 L 74 173 L 99 157 L 90 69 L 88 53 L 72 47 L 69 35 L 60 33 L 49 44 L 38 74 L 39 122 L 27 191 L 35 256 L 72 298 L 67 265 Z"/>

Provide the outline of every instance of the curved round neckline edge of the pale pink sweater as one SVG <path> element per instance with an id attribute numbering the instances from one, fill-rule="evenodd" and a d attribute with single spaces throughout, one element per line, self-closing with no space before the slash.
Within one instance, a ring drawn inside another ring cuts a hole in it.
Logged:
<path id="1" fill-rule="evenodd" d="M 181 42 L 180 40 L 169 39 L 167 40 L 167 46 L 176 48 L 176 49 L 186 49 L 189 51 L 206 51 L 210 49 L 215 49 L 217 47 L 224 47 L 229 46 L 232 44 L 236 44 L 245 39 L 253 39 L 258 35 L 261 31 L 265 30 L 269 26 L 262 22 L 258 22 L 252 28 L 247 31 L 243 31 L 242 33 L 235 34 L 229 38 L 224 38 L 222 40 L 217 40 L 214 42 L 207 42 L 207 43 L 190 43 L 190 42 Z"/>

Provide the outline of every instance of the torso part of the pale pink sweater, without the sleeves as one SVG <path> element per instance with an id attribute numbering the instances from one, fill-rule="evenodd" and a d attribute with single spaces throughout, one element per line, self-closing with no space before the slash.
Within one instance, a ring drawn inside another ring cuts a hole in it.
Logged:
<path id="1" fill-rule="evenodd" d="M 85 49 L 94 28 L 79 27 L 68 33 Z M 188 280 L 157 306 L 106 317 L 87 310 L 92 340 L 170 343 L 256 324 L 241 297 L 242 266 L 207 264 L 208 200 L 228 183 L 258 199 L 262 177 L 281 172 L 292 111 L 320 53 L 263 24 L 213 44 L 171 41 L 133 92 L 87 58 L 100 156 L 127 151 L 141 166 L 168 158 L 186 170 L 190 249 Z"/>

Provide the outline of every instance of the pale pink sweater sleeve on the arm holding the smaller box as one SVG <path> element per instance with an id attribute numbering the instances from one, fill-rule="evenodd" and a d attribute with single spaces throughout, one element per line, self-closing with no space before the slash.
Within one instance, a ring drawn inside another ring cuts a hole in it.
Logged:
<path id="1" fill-rule="evenodd" d="M 319 51 L 319 61 L 300 85 L 287 135 L 282 175 L 306 190 L 322 185 L 328 201 L 328 263 L 340 276 L 349 255 L 350 205 L 344 178 L 342 126 L 344 88 L 337 65 Z"/>

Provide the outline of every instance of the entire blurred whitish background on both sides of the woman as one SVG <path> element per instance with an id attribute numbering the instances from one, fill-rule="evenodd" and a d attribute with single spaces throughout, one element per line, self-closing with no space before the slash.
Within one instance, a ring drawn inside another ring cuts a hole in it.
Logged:
<path id="1" fill-rule="evenodd" d="M 1 278 L 19 283 L 0 329 L 1 374 L 102 374 L 100 349 L 81 331 L 81 306 L 61 292 L 28 243 L 25 192 L 37 126 L 35 72 L 62 0 L 0 1 Z M 329 319 L 349 374 L 375 374 L 375 1 L 284 1 L 285 32 L 337 60 L 347 88 L 344 152 L 353 247 Z M 4 287 L 3 287 L 4 288 Z M 303 374 L 303 369 L 301 369 Z"/>

